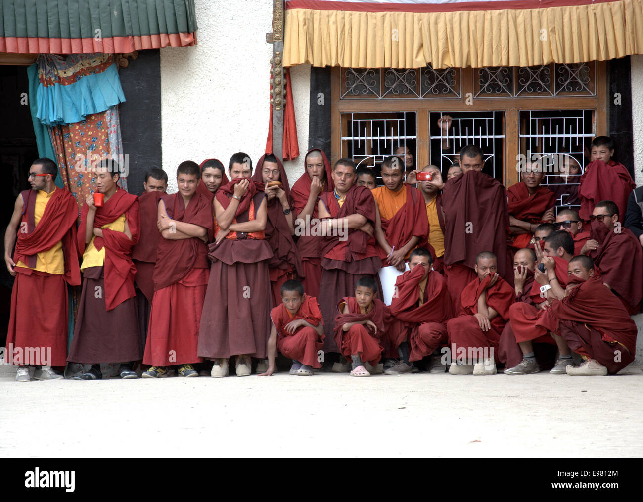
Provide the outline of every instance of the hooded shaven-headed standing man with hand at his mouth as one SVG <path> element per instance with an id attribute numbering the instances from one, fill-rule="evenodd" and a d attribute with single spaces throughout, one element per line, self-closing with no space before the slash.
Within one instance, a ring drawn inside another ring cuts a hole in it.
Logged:
<path id="1" fill-rule="evenodd" d="M 318 148 L 312 149 L 305 156 L 305 172 L 294 182 L 291 195 L 293 196 L 293 211 L 295 235 L 298 236 L 297 247 L 303 267 L 303 289 L 306 294 L 319 298 L 321 280 L 321 241 L 318 236 L 311 235 L 302 229 L 311 228 L 311 221 L 318 219 L 317 197 L 320 193 L 332 192 L 331 163 L 326 154 Z"/>

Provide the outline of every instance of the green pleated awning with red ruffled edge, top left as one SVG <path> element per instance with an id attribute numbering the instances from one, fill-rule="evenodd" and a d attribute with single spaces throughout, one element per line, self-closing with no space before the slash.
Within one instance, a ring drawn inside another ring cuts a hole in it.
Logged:
<path id="1" fill-rule="evenodd" d="M 0 52 L 129 53 L 193 46 L 194 0 L 2 0 Z"/>

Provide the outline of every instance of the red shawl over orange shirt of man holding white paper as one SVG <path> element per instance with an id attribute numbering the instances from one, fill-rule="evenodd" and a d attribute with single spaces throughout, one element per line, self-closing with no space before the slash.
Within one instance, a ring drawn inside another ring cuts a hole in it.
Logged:
<path id="1" fill-rule="evenodd" d="M 385 188 L 388 191 L 388 188 Z M 382 230 L 386 236 L 386 242 L 395 249 L 400 249 L 412 237 L 419 237 L 419 246 L 426 246 L 429 234 L 429 220 L 426 215 L 426 204 L 422 193 L 408 184 L 404 184 L 402 190 L 406 190 L 406 202 L 395 213 L 391 219 L 381 217 Z M 386 192 L 385 192 L 386 193 Z M 379 257 L 386 260 L 387 256 L 381 247 L 377 247 Z"/>

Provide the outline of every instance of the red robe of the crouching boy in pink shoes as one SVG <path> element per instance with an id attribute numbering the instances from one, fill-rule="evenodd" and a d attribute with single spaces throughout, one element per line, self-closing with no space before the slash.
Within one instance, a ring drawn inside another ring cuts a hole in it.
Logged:
<path id="1" fill-rule="evenodd" d="M 344 314 L 344 306 L 349 307 L 349 313 Z M 335 343 L 346 359 L 352 361 L 352 356 L 361 354 L 362 361 L 368 361 L 371 366 L 375 366 L 381 359 L 383 346 L 380 340 L 387 336 L 395 320 L 392 318 L 390 310 L 381 300 L 375 298 L 372 303 L 372 309 L 366 314 L 359 310 L 357 300 L 352 296 L 342 298 L 337 305 L 338 314 L 335 317 Z M 359 323 L 361 321 L 372 321 L 377 326 L 377 331 L 372 326 L 356 324 L 343 330 L 346 323 Z"/>

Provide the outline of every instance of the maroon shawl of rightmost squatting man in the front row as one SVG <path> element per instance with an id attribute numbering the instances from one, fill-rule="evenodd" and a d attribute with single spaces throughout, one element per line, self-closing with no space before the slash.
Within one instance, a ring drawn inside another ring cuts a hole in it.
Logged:
<path id="1" fill-rule="evenodd" d="M 630 354 L 635 354 L 637 325 L 620 300 L 603 285 L 602 277 L 594 274 L 586 281 L 576 279 L 581 282 L 579 286 L 572 289 L 563 300 L 552 302 L 550 310 L 555 321 L 586 324 L 598 330 L 604 341 L 617 341 Z M 544 324 L 544 327 L 552 331 L 557 328 Z"/>

